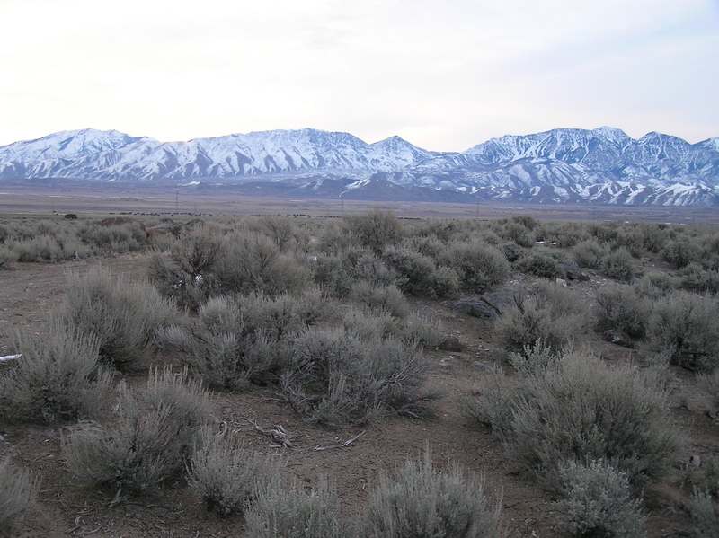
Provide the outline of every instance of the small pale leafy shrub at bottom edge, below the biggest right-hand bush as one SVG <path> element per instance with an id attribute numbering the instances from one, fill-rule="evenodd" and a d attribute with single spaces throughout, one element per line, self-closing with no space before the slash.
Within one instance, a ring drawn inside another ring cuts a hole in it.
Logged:
<path id="1" fill-rule="evenodd" d="M 623 472 L 605 462 L 567 462 L 559 467 L 557 530 L 566 536 L 640 538 L 646 517 L 632 498 Z"/>

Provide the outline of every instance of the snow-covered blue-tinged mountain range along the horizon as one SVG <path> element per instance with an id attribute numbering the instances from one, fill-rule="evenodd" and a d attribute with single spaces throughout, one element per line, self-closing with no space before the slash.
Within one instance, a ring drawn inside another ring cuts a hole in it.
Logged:
<path id="1" fill-rule="evenodd" d="M 449 153 L 310 128 L 165 143 L 83 129 L 0 146 L 0 182 L 35 179 L 295 198 L 719 206 L 719 137 L 689 144 L 656 132 L 558 128 Z"/>

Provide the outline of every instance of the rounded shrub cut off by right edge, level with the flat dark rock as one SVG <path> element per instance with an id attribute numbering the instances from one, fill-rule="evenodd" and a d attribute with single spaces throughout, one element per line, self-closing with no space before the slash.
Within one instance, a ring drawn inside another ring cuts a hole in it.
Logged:
<path id="1" fill-rule="evenodd" d="M 657 301 L 648 336 L 670 351 L 676 365 L 713 370 L 719 365 L 719 307 L 714 299 L 677 293 Z"/>

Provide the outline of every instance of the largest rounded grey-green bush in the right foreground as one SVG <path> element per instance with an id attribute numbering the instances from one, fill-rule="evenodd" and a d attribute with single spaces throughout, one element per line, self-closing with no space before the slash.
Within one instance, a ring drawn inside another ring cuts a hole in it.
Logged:
<path id="1" fill-rule="evenodd" d="M 636 486 L 669 472 L 679 440 L 651 376 L 572 353 L 521 384 L 506 443 L 547 489 L 568 461 L 605 461 Z"/>

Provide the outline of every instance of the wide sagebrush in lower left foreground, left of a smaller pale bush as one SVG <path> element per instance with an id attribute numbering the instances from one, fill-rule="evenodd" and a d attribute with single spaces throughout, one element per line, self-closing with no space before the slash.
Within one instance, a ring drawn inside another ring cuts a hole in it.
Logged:
<path id="1" fill-rule="evenodd" d="M 182 477 L 201 428 L 209 421 L 209 394 L 187 369 L 150 372 L 146 390 L 120 384 L 118 423 L 84 423 L 63 433 L 67 468 L 82 481 L 152 494 Z"/>

